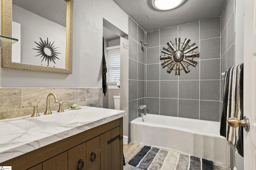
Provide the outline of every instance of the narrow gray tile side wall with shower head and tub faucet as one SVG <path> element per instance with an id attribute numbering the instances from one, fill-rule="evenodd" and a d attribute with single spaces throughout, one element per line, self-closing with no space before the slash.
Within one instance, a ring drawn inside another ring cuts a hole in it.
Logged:
<path id="1" fill-rule="evenodd" d="M 129 17 L 129 126 L 130 121 L 138 117 L 137 107 L 145 104 L 145 47 L 140 39 L 145 41 L 145 31 Z M 158 84 L 159 85 L 159 84 Z M 154 95 L 154 94 L 152 94 Z M 129 129 L 130 130 L 130 129 Z M 130 131 L 129 131 L 130 134 Z M 130 139 L 130 138 L 129 138 Z"/>

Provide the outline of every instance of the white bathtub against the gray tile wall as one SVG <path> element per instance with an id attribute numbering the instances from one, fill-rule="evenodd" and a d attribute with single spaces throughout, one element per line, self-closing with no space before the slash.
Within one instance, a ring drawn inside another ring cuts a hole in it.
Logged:
<path id="1" fill-rule="evenodd" d="M 230 166 L 230 147 L 220 123 L 147 114 L 131 121 L 131 142 L 175 150 Z"/>

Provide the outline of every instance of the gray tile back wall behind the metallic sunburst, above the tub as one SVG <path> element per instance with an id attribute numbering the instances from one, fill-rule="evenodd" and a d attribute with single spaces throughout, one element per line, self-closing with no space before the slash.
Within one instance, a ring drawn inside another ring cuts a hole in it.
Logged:
<path id="1" fill-rule="evenodd" d="M 218 17 L 146 33 L 147 113 L 220 121 L 221 29 Z M 196 43 L 194 52 L 200 52 L 196 67 L 190 65 L 187 74 L 180 70 L 180 76 L 168 74 L 159 60 L 161 49 L 178 37 Z"/>

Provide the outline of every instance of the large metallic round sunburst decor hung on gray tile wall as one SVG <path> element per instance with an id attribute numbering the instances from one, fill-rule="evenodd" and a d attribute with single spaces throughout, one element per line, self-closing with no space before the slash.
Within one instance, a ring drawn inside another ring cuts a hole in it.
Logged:
<path id="1" fill-rule="evenodd" d="M 190 39 L 187 38 L 185 39 L 184 43 L 180 43 L 180 38 L 176 38 L 175 41 L 176 43 L 174 44 L 172 44 L 171 41 L 167 43 L 168 49 L 163 47 L 161 52 L 164 53 L 164 55 L 160 56 L 160 60 L 164 60 L 164 63 L 162 63 L 161 65 L 163 68 L 165 68 L 166 66 L 168 67 L 168 69 L 166 70 L 166 72 L 168 73 L 171 73 L 172 70 L 176 70 L 175 75 L 180 75 L 180 70 L 184 70 L 186 73 L 188 73 L 190 72 L 190 70 L 188 69 L 189 65 L 196 67 L 197 62 L 193 61 L 194 57 L 200 57 L 199 52 L 194 53 L 193 51 L 198 47 L 195 43 L 193 43 L 192 45 L 188 45 Z M 180 44 L 182 44 L 181 48 Z M 176 46 L 176 48 L 174 46 Z M 180 64 L 182 66 L 182 69 L 180 69 Z M 175 65 L 176 69 L 174 69 Z"/>

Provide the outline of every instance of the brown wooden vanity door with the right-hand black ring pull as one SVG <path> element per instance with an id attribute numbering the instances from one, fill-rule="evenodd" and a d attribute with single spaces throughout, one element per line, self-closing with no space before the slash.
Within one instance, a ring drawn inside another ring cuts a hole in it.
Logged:
<path id="1" fill-rule="evenodd" d="M 100 170 L 100 136 L 86 143 L 86 170 Z"/>

